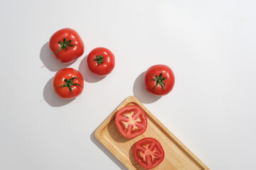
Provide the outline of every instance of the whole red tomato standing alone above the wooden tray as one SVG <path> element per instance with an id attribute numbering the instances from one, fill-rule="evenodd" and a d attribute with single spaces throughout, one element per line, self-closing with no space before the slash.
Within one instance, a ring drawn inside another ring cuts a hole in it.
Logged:
<path id="1" fill-rule="evenodd" d="M 144 74 L 144 88 L 156 96 L 164 96 L 174 88 L 174 73 L 171 68 L 159 64 L 149 67 Z"/>

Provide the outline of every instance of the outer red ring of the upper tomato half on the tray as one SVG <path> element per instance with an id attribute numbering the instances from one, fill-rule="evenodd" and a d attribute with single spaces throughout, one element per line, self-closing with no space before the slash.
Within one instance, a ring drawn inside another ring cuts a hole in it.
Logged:
<path id="1" fill-rule="evenodd" d="M 133 134 L 126 134 L 126 132 L 124 132 L 124 130 L 122 130 L 122 126 L 119 125 L 119 116 L 122 115 L 122 113 L 124 113 L 125 111 L 130 111 L 130 110 L 136 110 L 138 111 L 138 113 L 141 113 L 141 118 L 143 121 L 143 126 L 142 126 L 142 130 L 133 133 Z M 145 131 L 146 131 L 146 127 L 147 127 L 147 118 L 146 118 L 146 113 L 145 111 L 139 107 L 139 106 L 124 106 L 123 108 L 121 108 L 119 111 L 117 111 L 116 117 L 115 117 L 115 124 L 117 125 L 117 130 L 121 133 L 121 135 L 123 137 L 126 137 L 128 139 L 132 139 L 134 137 L 137 137 L 139 135 L 142 135 Z"/>

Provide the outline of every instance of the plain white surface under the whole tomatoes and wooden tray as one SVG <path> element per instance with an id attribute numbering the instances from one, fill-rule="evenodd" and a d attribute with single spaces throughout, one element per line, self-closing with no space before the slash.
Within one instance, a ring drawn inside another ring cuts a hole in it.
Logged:
<path id="1" fill-rule="evenodd" d="M 256 1 L 1 1 L 0 169 L 126 169 L 93 135 L 128 96 L 136 96 L 210 169 L 256 169 Z M 78 31 L 85 53 L 53 57 L 48 40 Z M 99 79 L 85 56 L 107 47 L 113 72 Z M 143 73 L 167 64 L 176 84 L 147 94 Z M 53 93 L 62 68 L 85 88 L 73 101 Z"/>

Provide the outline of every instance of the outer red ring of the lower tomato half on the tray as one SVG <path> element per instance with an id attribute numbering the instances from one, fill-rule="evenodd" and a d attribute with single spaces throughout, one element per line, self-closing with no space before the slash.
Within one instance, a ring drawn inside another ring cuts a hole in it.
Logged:
<path id="1" fill-rule="evenodd" d="M 161 157 L 156 164 L 144 164 L 144 162 L 142 162 L 141 159 L 139 159 L 139 157 L 137 156 L 137 150 L 140 148 L 139 145 L 142 145 L 146 141 L 152 142 L 154 145 L 156 145 L 159 148 L 159 151 L 161 152 Z M 154 139 L 153 137 L 145 137 L 142 140 L 139 140 L 138 142 L 136 142 L 133 147 L 133 154 L 134 154 L 135 160 L 144 169 L 154 169 L 156 166 L 158 166 L 164 160 L 164 148 L 161 146 L 160 142 L 158 140 Z"/>

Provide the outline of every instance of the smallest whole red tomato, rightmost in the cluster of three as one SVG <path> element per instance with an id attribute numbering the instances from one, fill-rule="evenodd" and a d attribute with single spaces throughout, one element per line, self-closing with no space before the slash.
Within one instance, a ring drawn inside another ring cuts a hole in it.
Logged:
<path id="1" fill-rule="evenodd" d="M 89 53 L 87 64 L 98 77 L 107 76 L 114 69 L 114 54 L 105 47 L 97 47 Z"/>

